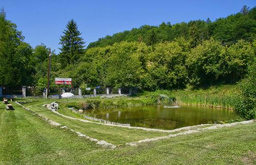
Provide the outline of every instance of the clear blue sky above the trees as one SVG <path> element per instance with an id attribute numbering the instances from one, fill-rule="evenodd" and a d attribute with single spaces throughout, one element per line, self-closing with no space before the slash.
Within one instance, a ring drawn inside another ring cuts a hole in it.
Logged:
<path id="1" fill-rule="evenodd" d="M 88 45 L 106 35 L 139 28 L 144 24 L 159 25 L 163 21 L 174 24 L 206 20 L 207 17 L 214 21 L 239 12 L 243 5 L 252 8 L 256 6 L 256 1 L 0 0 L 0 5 L 5 8 L 7 19 L 16 23 L 18 30 L 23 32 L 25 42 L 33 47 L 44 43 L 59 52 L 60 35 L 72 18 Z"/>

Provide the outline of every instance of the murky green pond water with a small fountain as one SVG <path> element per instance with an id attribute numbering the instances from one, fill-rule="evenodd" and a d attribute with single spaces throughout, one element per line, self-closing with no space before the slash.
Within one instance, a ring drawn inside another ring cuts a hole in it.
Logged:
<path id="1" fill-rule="evenodd" d="M 236 119 L 231 111 L 202 106 L 134 106 L 113 109 L 89 109 L 84 115 L 131 126 L 176 129 L 185 126 Z"/>

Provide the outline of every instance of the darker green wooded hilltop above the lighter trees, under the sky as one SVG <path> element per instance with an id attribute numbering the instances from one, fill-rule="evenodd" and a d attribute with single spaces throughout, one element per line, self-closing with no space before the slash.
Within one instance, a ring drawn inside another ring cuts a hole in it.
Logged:
<path id="1" fill-rule="evenodd" d="M 190 40 L 191 47 L 195 47 L 211 37 L 228 45 L 241 39 L 253 41 L 256 34 L 255 16 L 255 8 L 249 10 L 244 6 L 239 13 L 219 18 L 213 22 L 208 18 L 206 21 L 191 20 L 176 24 L 163 22 L 158 26 L 142 25 L 131 31 L 100 38 L 96 42 L 91 42 L 88 48 L 104 47 L 121 41 L 142 41 L 146 45 L 154 45 L 155 43 L 174 41 L 179 37 Z"/>

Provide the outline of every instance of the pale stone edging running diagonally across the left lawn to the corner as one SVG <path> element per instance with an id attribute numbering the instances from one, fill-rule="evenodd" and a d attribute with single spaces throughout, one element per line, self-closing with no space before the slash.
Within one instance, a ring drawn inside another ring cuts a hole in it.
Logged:
<path id="1" fill-rule="evenodd" d="M 96 142 L 97 145 L 100 145 L 100 146 L 102 146 L 102 147 L 111 148 L 111 149 L 116 148 L 116 146 L 113 145 L 113 144 L 111 144 L 111 143 L 108 143 L 108 142 L 103 141 L 103 140 L 102 140 L 102 141 L 99 141 L 99 140 L 97 140 L 97 139 L 93 139 L 92 137 L 87 136 L 87 135 L 85 135 L 85 134 L 82 134 L 81 132 L 75 131 L 75 130 L 73 130 L 73 129 L 67 127 L 67 126 L 61 126 L 61 124 L 59 124 L 59 123 L 57 123 L 57 122 L 54 122 L 53 120 L 50 120 L 50 119 L 46 118 L 44 115 L 41 115 L 41 114 L 38 114 L 38 113 L 32 111 L 31 109 L 29 109 L 29 108 L 23 106 L 22 104 L 20 104 L 20 103 L 17 102 L 17 101 L 16 101 L 16 104 L 18 104 L 19 106 L 22 106 L 23 108 L 25 108 L 28 112 L 32 113 L 33 115 L 37 115 L 38 117 L 40 117 L 40 118 L 42 118 L 43 120 L 47 121 L 47 122 L 48 122 L 50 125 L 52 125 L 52 126 L 56 126 L 56 127 L 68 129 L 68 130 L 70 130 L 70 131 L 72 131 L 72 132 L 75 132 L 79 137 L 84 137 L 84 138 L 86 138 L 86 139 L 88 139 L 88 140 L 90 140 L 90 141 L 92 141 L 92 142 Z"/>

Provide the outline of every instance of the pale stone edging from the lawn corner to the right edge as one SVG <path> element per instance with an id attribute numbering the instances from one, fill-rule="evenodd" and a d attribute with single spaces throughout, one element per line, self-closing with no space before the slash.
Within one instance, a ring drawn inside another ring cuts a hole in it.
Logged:
<path id="1" fill-rule="evenodd" d="M 206 128 L 197 128 L 197 130 L 188 130 L 188 131 L 184 131 L 184 132 L 181 132 L 181 133 L 169 134 L 167 136 L 161 136 L 161 137 L 156 137 L 156 138 L 152 138 L 152 139 L 144 139 L 144 140 L 140 140 L 140 141 L 137 141 L 137 142 L 130 142 L 130 143 L 126 143 L 125 145 L 137 146 L 141 143 L 158 141 L 158 140 L 162 140 L 162 139 L 169 139 L 171 137 L 176 137 L 176 136 L 179 136 L 179 135 L 187 135 L 187 134 L 191 134 L 191 133 L 198 133 L 198 132 L 205 131 L 205 130 L 218 129 L 218 128 L 222 128 L 222 127 L 231 127 L 231 126 L 236 126 L 238 124 L 250 124 L 250 123 L 253 123 L 255 121 L 256 120 L 247 120 L 247 121 L 234 122 L 234 123 L 229 123 L 229 124 L 217 124 L 217 125 L 206 127 Z"/>

